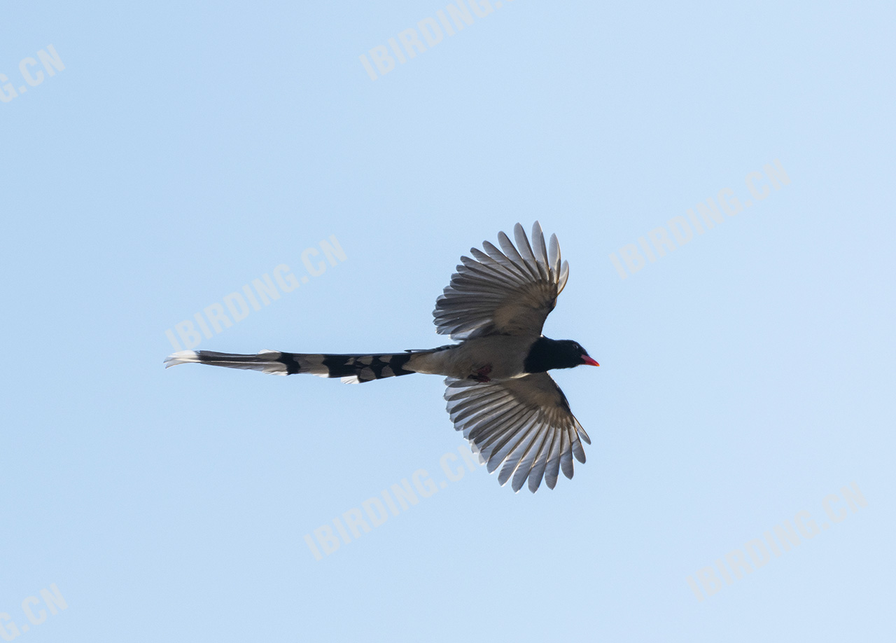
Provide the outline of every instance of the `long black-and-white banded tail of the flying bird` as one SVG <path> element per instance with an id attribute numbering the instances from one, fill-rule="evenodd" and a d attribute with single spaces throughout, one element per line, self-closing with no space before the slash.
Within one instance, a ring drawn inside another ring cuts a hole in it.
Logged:
<path id="1" fill-rule="evenodd" d="M 272 375 L 311 373 L 321 378 L 342 378 L 343 382 L 370 382 L 375 379 L 410 375 L 406 369 L 410 358 L 420 352 L 405 351 L 378 355 L 323 355 L 303 352 L 262 351 L 256 355 L 237 355 L 230 352 L 178 351 L 168 355 L 165 368 L 195 362 L 224 366 L 228 369 L 261 370 Z"/>

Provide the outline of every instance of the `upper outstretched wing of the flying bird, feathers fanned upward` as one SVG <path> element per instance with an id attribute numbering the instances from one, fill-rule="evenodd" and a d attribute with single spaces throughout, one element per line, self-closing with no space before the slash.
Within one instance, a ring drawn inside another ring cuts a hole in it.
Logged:
<path id="1" fill-rule="evenodd" d="M 471 248 L 473 258 L 461 256 L 444 294 L 435 300 L 438 333 L 463 340 L 483 335 L 541 335 L 547 314 L 569 277 L 569 264 L 560 263 L 560 244 L 551 235 L 550 249 L 538 222 L 532 226 L 532 246 L 517 223 L 516 247 L 504 232 L 501 249 L 488 241 L 485 252 Z"/>

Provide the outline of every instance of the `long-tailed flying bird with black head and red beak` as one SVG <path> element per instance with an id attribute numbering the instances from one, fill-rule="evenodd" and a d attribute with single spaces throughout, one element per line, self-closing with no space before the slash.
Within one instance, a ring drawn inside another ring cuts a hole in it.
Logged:
<path id="1" fill-rule="evenodd" d="M 599 366 L 582 345 L 542 334 L 547 315 L 569 278 L 556 234 L 549 245 L 538 222 L 532 243 L 520 223 L 514 246 L 498 233 L 470 248 L 451 282 L 435 301 L 436 332 L 456 343 L 396 353 L 327 354 L 265 350 L 254 355 L 179 351 L 165 367 L 185 363 L 274 375 L 311 373 L 364 383 L 412 373 L 444 376 L 447 411 L 455 430 L 470 441 L 489 473 L 513 491 L 527 483 L 533 493 L 542 479 L 554 489 L 558 473 L 573 478 L 573 456 L 585 462 L 582 442 L 591 443 L 563 391 L 547 371 Z"/>

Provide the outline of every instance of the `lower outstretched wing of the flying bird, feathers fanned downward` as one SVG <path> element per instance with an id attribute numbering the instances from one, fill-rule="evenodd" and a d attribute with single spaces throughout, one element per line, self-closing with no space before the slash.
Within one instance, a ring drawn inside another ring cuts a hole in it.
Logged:
<path id="1" fill-rule="evenodd" d="M 502 485 L 513 476 L 513 491 L 520 491 L 528 478 L 534 493 L 544 477 L 554 489 L 559 470 L 573 477 L 573 456 L 585 462 L 580 438 L 591 440 L 547 373 L 486 384 L 446 378 L 445 384 L 454 428 L 479 448 L 489 473 L 504 463 Z"/>

